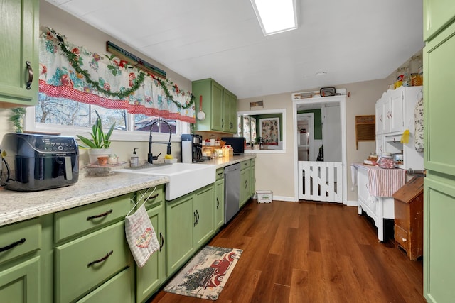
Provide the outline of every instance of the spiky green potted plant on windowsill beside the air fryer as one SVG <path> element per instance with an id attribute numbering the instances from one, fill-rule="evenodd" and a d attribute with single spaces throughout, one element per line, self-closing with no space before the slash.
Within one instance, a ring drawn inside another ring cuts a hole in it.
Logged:
<path id="1" fill-rule="evenodd" d="M 111 141 L 109 138 L 114 131 L 115 123 L 109 128 L 109 131 L 105 133 L 102 129 L 101 117 L 97 111 L 97 120 L 92 126 L 92 133 L 90 133 L 91 139 L 84 136 L 77 135 L 77 138 L 82 141 L 85 145 L 79 145 L 80 148 L 87 148 L 87 153 L 89 156 L 90 163 L 96 163 L 98 157 L 100 156 L 109 156 L 112 152 L 109 148 Z"/>

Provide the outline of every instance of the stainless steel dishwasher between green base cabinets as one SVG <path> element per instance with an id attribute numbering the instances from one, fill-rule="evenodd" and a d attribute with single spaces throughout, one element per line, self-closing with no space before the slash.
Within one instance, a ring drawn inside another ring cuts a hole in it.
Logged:
<path id="1" fill-rule="evenodd" d="M 225 224 L 240 209 L 240 163 L 225 167 Z"/>

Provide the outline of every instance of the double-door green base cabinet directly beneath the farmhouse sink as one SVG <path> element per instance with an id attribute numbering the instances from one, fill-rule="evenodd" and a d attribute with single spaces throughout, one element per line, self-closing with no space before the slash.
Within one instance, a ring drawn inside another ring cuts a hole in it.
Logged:
<path id="1" fill-rule="evenodd" d="M 173 275 L 215 234 L 215 187 L 166 202 L 166 273 Z"/>

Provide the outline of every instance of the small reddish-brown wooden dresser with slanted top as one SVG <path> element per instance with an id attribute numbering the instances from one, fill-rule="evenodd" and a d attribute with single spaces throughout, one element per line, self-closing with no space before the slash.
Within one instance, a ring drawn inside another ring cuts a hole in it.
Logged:
<path id="1" fill-rule="evenodd" d="M 395 244 L 411 260 L 423 255 L 424 178 L 413 177 L 392 197 L 395 199 Z"/>

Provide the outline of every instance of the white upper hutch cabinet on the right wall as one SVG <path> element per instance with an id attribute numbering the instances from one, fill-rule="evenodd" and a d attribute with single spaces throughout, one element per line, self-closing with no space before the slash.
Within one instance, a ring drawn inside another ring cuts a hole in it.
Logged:
<path id="1" fill-rule="evenodd" d="M 405 170 L 423 170 L 423 153 L 414 145 L 414 108 L 422 97 L 422 87 L 389 89 L 376 102 L 376 153 L 402 153 Z M 401 143 L 402 134 L 410 131 L 409 142 Z"/>

